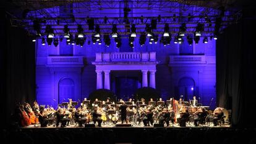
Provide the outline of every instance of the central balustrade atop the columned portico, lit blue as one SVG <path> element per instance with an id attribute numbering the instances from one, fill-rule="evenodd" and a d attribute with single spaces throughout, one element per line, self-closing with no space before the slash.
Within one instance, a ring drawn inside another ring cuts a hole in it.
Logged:
<path id="1" fill-rule="evenodd" d="M 156 52 L 96 53 L 96 62 L 147 62 L 155 61 Z"/>

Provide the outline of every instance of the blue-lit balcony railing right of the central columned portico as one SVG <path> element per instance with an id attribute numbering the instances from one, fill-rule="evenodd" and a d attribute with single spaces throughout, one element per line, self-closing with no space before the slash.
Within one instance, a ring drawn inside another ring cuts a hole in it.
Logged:
<path id="1" fill-rule="evenodd" d="M 170 55 L 169 63 L 206 63 L 205 55 Z"/>

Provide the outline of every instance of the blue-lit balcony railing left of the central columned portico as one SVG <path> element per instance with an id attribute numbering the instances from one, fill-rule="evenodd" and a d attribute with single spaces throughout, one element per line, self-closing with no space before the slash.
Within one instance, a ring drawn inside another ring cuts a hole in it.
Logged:
<path id="1" fill-rule="evenodd" d="M 48 57 L 47 58 L 48 65 L 82 65 L 83 64 L 83 57 L 64 57 L 64 56 L 58 56 L 58 57 Z"/>

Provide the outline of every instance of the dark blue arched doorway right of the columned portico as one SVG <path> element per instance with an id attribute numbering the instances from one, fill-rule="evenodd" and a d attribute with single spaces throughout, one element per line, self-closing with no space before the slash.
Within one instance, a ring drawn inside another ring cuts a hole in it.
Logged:
<path id="1" fill-rule="evenodd" d="M 179 79 L 178 84 L 179 96 L 183 95 L 184 100 L 192 100 L 193 95 L 195 95 L 195 81 L 192 78 L 184 77 Z"/>

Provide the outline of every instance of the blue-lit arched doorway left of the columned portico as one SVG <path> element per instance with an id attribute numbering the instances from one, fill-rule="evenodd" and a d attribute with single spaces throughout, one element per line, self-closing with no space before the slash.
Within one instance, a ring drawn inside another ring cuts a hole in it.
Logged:
<path id="1" fill-rule="evenodd" d="M 74 81 L 70 78 L 63 78 L 59 81 L 59 103 L 68 102 L 67 98 L 74 100 Z"/>

